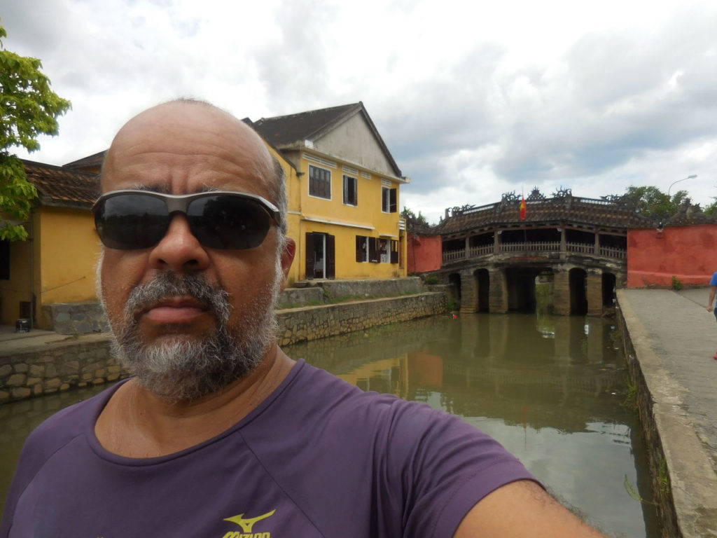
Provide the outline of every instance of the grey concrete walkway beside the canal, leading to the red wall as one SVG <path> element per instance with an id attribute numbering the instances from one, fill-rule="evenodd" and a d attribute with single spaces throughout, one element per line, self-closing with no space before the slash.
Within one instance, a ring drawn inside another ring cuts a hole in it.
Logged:
<path id="1" fill-rule="evenodd" d="M 717 537 L 717 323 L 708 296 L 708 287 L 617 292 L 685 538 Z"/>

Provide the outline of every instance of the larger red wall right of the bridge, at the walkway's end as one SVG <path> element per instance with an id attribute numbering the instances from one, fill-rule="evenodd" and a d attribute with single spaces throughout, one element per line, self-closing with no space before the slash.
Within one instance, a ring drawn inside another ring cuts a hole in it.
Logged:
<path id="1" fill-rule="evenodd" d="M 627 230 L 627 287 L 708 285 L 717 271 L 717 224 Z"/>

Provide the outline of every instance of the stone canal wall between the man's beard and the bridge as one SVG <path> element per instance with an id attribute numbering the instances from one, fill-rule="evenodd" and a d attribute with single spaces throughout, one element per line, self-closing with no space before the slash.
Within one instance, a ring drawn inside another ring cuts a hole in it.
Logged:
<path id="1" fill-rule="evenodd" d="M 279 344 L 285 346 L 445 312 L 444 293 L 336 303 L 277 312 Z"/>

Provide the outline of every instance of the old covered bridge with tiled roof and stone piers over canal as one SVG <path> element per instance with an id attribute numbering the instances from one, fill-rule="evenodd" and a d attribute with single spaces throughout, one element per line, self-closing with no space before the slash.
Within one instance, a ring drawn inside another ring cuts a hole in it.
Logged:
<path id="1" fill-rule="evenodd" d="M 531 309 L 536 279 L 552 282 L 557 314 L 601 315 L 627 279 L 627 230 L 650 227 L 629 202 L 560 190 L 446 209 L 440 273 L 463 312 Z"/>

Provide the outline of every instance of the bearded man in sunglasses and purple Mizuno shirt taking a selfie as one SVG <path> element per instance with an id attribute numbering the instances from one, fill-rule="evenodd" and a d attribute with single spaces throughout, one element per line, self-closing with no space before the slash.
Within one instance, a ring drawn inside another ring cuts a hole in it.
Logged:
<path id="1" fill-rule="evenodd" d="M 599 537 L 463 420 L 277 346 L 294 258 L 280 166 L 178 101 L 115 136 L 99 294 L 134 377 L 28 438 L 1 538 Z"/>

